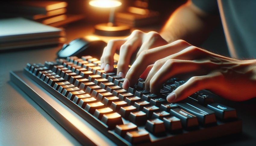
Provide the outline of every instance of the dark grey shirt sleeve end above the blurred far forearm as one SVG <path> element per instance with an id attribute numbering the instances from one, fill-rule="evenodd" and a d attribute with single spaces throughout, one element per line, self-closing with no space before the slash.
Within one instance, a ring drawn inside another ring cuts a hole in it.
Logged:
<path id="1" fill-rule="evenodd" d="M 207 14 L 219 14 L 217 0 L 192 0 L 192 3 Z"/>

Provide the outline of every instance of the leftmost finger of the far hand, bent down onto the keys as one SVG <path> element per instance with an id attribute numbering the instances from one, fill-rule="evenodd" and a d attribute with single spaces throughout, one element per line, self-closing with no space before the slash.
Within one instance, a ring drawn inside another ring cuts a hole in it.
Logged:
<path id="1" fill-rule="evenodd" d="M 110 40 L 103 54 L 103 63 L 105 72 L 112 72 L 114 70 L 114 54 L 120 49 L 121 45 L 126 42 L 125 39 Z"/>

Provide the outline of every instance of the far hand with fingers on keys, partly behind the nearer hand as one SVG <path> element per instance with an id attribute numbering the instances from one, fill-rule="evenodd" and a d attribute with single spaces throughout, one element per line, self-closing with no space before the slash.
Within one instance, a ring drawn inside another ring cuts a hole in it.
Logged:
<path id="1" fill-rule="evenodd" d="M 135 60 L 142 51 L 166 44 L 167 42 L 157 32 L 144 33 L 134 30 L 125 39 L 114 39 L 108 42 L 101 56 L 101 70 L 112 72 L 114 70 L 114 54 L 119 52 L 117 74 L 124 78 L 130 62 Z"/>

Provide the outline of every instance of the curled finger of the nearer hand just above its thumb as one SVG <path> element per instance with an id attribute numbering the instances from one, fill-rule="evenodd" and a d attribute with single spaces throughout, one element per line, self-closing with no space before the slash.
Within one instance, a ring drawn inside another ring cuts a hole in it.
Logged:
<path id="1" fill-rule="evenodd" d="M 161 64 L 159 65 L 161 66 Z M 162 84 L 173 76 L 181 73 L 196 74 L 197 76 L 204 74 L 204 72 L 199 72 L 201 68 L 204 68 L 203 66 L 194 61 L 169 59 L 160 69 L 158 69 L 159 67 L 152 68 L 147 78 L 150 82 L 145 82 L 145 86 L 150 87 L 147 89 L 150 92 L 158 93 Z"/>

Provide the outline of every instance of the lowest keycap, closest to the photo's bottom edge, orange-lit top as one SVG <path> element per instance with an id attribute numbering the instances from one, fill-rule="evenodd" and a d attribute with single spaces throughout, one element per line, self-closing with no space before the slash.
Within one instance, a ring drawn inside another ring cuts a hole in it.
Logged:
<path id="1" fill-rule="evenodd" d="M 150 141 L 149 134 L 144 129 L 126 132 L 125 139 L 132 144 L 139 144 Z"/>

